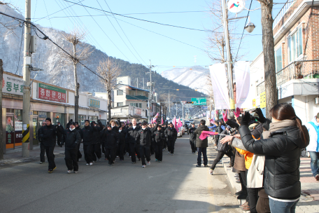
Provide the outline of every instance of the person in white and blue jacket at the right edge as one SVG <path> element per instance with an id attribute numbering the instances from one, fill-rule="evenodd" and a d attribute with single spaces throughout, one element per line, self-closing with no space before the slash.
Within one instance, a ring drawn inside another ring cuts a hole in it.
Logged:
<path id="1" fill-rule="evenodd" d="M 313 173 L 313 177 L 319 181 L 319 113 L 311 122 L 306 123 L 306 128 L 310 137 L 310 142 L 306 147 L 306 151 L 309 151 L 311 158 L 311 172 Z"/>

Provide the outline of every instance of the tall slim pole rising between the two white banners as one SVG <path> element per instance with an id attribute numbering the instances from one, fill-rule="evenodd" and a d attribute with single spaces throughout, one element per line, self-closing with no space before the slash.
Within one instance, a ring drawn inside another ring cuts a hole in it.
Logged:
<path id="1" fill-rule="evenodd" d="M 229 44 L 229 34 L 228 34 L 228 14 L 226 9 L 226 0 L 222 0 L 222 19 L 224 21 L 224 31 L 225 31 L 225 42 L 227 50 L 227 73 L 229 79 L 229 104 L 230 109 L 235 109 L 234 105 L 234 88 L 232 79 L 232 58 L 230 56 L 230 44 Z"/>

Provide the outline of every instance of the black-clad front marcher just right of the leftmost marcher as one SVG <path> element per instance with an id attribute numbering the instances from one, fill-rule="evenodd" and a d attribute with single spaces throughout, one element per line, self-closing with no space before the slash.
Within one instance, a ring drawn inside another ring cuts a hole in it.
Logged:
<path id="1" fill-rule="evenodd" d="M 78 144 L 81 142 L 81 136 L 76 130 L 76 123 L 70 123 L 70 128 L 64 130 L 62 145 L 65 144 L 65 164 L 68 167 L 68 173 L 72 170 L 78 173 Z"/>

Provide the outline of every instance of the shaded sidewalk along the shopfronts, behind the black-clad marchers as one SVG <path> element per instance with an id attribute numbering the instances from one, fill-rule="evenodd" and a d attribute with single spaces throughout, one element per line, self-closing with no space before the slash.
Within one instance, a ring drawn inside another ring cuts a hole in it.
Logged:
<path id="1" fill-rule="evenodd" d="M 64 147 L 55 146 L 55 155 L 59 153 L 64 153 Z M 12 163 L 23 163 L 32 160 L 38 160 L 40 162 L 40 146 L 34 146 L 33 150 L 30 150 L 29 158 L 22 157 L 22 148 L 6 150 L 6 153 L 3 155 L 4 160 L 0 160 L 0 166 L 9 165 Z M 45 157 L 45 162 L 48 162 Z"/>

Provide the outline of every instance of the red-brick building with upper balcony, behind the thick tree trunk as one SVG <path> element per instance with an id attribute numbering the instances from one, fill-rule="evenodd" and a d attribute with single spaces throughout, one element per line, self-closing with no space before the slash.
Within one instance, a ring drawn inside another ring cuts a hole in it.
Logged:
<path id="1" fill-rule="evenodd" d="M 313 4 L 313 6 L 312 6 Z M 312 10 L 312 15 L 311 14 Z M 288 1 L 274 18 L 278 102 L 288 102 L 304 123 L 319 112 L 319 0 Z M 264 55 L 250 64 L 256 105 L 264 92 Z"/>

